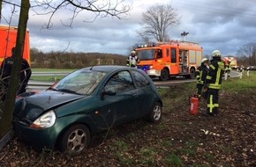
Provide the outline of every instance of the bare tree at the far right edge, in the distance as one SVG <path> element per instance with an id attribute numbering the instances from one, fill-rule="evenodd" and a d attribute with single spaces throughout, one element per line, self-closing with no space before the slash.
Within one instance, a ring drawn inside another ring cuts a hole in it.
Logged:
<path id="1" fill-rule="evenodd" d="M 256 64 L 256 43 L 247 43 L 237 50 L 237 55 L 243 59 L 249 58 L 249 65 Z"/>

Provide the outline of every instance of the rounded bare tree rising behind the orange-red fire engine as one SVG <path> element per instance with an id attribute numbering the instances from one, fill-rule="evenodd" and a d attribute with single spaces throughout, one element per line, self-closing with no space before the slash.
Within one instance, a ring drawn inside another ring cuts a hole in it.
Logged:
<path id="1" fill-rule="evenodd" d="M 142 25 L 138 35 L 147 42 L 150 37 L 157 41 L 167 41 L 170 25 L 177 25 L 180 18 L 170 4 L 156 4 L 142 14 Z"/>

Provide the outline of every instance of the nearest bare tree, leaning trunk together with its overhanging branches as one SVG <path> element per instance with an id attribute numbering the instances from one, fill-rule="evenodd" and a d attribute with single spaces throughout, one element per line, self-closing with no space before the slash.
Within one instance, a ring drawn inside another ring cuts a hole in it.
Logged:
<path id="1" fill-rule="evenodd" d="M 7 0 L 1 0 L 1 6 L 2 2 L 8 5 L 19 6 Z M 130 5 L 124 5 L 124 0 L 115 0 L 115 3 L 113 3 L 112 0 L 35 0 L 33 3 L 35 4 L 33 4 L 32 9 L 35 13 L 43 15 L 42 17 L 46 17 L 46 15 L 49 14 L 49 22 L 45 25 L 46 28 L 50 28 L 53 25 L 51 20 L 59 10 L 71 11 L 72 15 L 71 18 L 69 18 L 70 22 L 67 24 L 69 26 L 72 26 L 74 18 L 76 18 L 81 11 L 92 11 L 95 13 L 95 17 L 92 20 L 94 21 L 95 18 L 106 17 L 109 15 L 116 18 L 122 18 L 123 14 L 131 10 Z M 16 40 L 15 62 L 11 69 L 11 81 L 7 91 L 6 100 L 4 101 L 4 111 L 0 112 L 0 139 L 11 129 L 12 112 L 18 89 L 19 70 L 22 61 L 22 51 L 25 40 L 28 11 L 30 9 L 30 1 L 22 0 L 19 7 L 19 27 Z M 42 8 L 44 12 L 37 12 L 37 10 L 39 11 L 38 8 Z M 0 11 L 2 11 L 2 8 L 0 8 Z"/>

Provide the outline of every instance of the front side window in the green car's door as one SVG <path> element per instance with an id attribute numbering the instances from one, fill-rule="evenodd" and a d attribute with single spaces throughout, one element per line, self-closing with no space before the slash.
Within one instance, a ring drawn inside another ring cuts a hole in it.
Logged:
<path id="1" fill-rule="evenodd" d="M 132 76 L 128 71 L 121 71 L 112 76 L 105 85 L 105 91 L 123 92 L 134 90 Z"/>

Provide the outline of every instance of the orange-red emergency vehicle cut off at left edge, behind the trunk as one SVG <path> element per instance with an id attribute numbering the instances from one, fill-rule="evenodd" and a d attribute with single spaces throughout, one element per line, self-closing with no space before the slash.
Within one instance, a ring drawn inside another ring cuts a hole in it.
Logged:
<path id="1" fill-rule="evenodd" d="M 0 25 L 0 65 L 6 57 L 11 56 L 11 48 L 15 47 L 18 28 Z M 29 32 L 26 30 L 23 58 L 30 63 Z"/>

